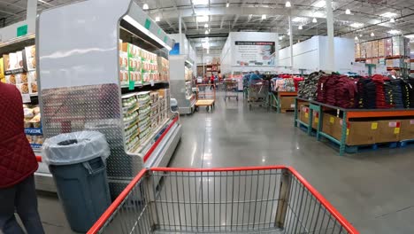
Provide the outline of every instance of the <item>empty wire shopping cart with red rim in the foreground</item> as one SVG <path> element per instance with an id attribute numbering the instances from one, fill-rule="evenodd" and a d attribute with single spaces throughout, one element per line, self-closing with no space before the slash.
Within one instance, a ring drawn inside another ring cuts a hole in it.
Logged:
<path id="1" fill-rule="evenodd" d="M 88 234 L 359 233 L 294 168 L 150 168 Z"/>

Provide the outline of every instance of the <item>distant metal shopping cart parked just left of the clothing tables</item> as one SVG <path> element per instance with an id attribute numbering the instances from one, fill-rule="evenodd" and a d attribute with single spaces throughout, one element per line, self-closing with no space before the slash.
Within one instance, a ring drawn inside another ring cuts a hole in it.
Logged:
<path id="1" fill-rule="evenodd" d="M 255 80 L 249 82 L 248 89 L 248 102 L 249 110 L 253 105 L 259 105 L 267 107 L 267 110 L 270 109 L 268 99 L 269 99 L 269 81 L 266 80 Z"/>

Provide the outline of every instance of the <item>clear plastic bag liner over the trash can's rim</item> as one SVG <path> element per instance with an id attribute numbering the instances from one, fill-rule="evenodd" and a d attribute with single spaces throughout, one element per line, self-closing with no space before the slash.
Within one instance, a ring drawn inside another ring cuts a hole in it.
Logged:
<path id="1" fill-rule="evenodd" d="M 106 160 L 111 151 L 102 133 L 80 131 L 46 139 L 42 146 L 42 153 L 48 165 L 71 165 L 97 157 Z"/>

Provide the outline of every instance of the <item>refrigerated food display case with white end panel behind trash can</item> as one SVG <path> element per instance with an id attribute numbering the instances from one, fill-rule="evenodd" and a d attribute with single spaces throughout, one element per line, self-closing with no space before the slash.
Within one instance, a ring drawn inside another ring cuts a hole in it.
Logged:
<path id="1" fill-rule="evenodd" d="M 181 136 L 170 108 L 171 38 L 131 0 L 67 4 L 43 11 L 37 26 L 45 137 L 102 132 L 112 198 L 142 168 L 166 167 Z"/>

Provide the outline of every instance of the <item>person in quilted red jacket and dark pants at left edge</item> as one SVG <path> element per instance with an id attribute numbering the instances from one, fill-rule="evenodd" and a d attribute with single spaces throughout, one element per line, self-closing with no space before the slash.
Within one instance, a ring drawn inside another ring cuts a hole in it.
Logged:
<path id="1" fill-rule="evenodd" d="M 34 178 L 38 164 L 25 135 L 22 103 L 16 86 L 0 82 L 0 233 L 25 233 L 16 210 L 28 234 L 43 234 Z"/>

